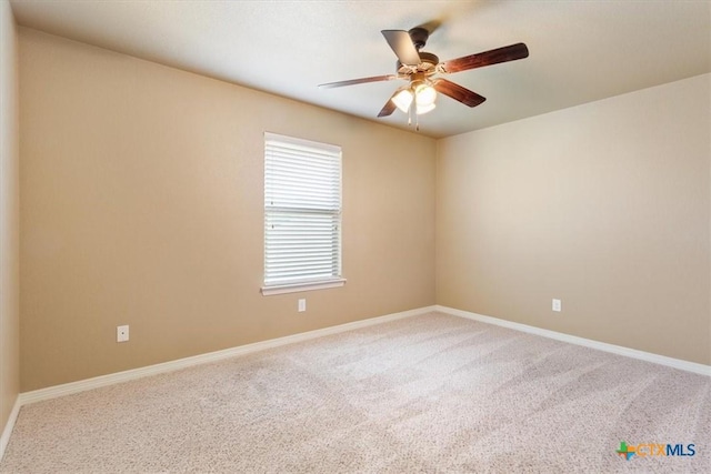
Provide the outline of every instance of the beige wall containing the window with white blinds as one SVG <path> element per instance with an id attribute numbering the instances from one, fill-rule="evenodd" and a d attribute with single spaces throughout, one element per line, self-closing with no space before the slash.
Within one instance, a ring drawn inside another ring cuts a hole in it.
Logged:
<path id="1" fill-rule="evenodd" d="M 27 29 L 20 81 L 22 391 L 434 303 L 434 140 Z M 264 131 L 342 147 L 344 288 L 260 294 Z"/>

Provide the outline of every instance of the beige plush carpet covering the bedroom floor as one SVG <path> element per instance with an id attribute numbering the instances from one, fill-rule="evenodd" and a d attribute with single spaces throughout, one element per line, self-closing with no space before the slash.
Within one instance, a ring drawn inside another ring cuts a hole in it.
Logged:
<path id="1" fill-rule="evenodd" d="M 432 313 L 23 406 L 0 472 L 710 473 L 711 379 Z"/>

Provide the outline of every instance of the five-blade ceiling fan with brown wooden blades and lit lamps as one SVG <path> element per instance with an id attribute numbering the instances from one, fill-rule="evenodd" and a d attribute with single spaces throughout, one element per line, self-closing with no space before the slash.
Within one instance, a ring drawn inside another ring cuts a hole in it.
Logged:
<path id="1" fill-rule="evenodd" d="M 340 88 L 393 79 L 407 80 L 408 84 L 399 88 L 392 94 L 380 113 L 378 113 L 378 117 L 388 117 L 394 112 L 395 108 L 409 113 L 412 102 L 414 102 L 414 111 L 418 115 L 430 112 L 435 107 L 437 92 L 448 95 L 464 105 L 477 107 L 487 99 L 438 75 L 514 61 L 529 56 L 525 44 L 515 43 L 440 62 L 437 56 L 421 51 L 430 36 L 425 28 L 417 27 L 410 31 L 382 30 L 381 33 L 398 57 L 397 72 L 394 74 L 319 84 L 320 88 Z"/>

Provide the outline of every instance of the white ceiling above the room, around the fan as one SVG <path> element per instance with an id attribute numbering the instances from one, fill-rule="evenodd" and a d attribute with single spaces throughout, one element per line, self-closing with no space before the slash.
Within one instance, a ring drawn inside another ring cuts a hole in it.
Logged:
<path id="1" fill-rule="evenodd" d="M 530 57 L 449 75 L 488 100 L 447 97 L 420 133 L 447 137 L 711 72 L 711 1 L 12 0 L 19 24 L 408 129 L 375 115 L 395 81 L 319 89 L 394 72 L 380 33 L 441 24 L 440 60 L 515 42 Z"/>

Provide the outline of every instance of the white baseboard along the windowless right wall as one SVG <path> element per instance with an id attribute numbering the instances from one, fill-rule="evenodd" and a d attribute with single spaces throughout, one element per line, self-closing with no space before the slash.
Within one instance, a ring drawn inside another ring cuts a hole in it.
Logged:
<path id="1" fill-rule="evenodd" d="M 651 352 L 638 351 L 635 349 L 623 347 L 621 345 L 608 344 L 605 342 L 593 341 L 590 339 L 578 337 L 555 331 L 544 330 L 541 327 L 529 326 L 512 321 L 499 320 L 497 317 L 484 316 L 482 314 L 471 313 L 469 311 L 455 310 L 453 307 L 435 305 L 434 311 L 451 314 L 453 316 L 467 317 L 469 320 L 479 321 L 488 324 L 508 327 L 530 334 L 541 335 L 543 337 L 554 339 L 557 341 L 568 342 L 570 344 L 582 345 L 585 347 L 597 349 L 599 351 L 611 352 L 627 357 L 639 359 L 641 361 L 653 362 L 660 365 L 667 365 L 680 369 L 687 372 L 693 372 L 701 375 L 711 376 L 711 365 L 698 364 L 695 362 L 682 361 L 680 359 L 667 357 L 664 355 L 652 354 Z"/>

